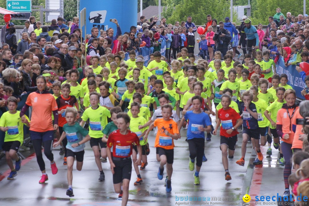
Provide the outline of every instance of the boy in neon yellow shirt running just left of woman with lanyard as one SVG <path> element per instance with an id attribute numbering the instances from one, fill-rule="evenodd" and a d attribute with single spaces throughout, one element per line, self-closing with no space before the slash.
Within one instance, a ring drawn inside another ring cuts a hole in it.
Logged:
<path id="1" fill-rule="evenodd" d="M 277 74 L 274 74 L 274 75 L 277 75 Z M 272 81 L 273 80 L 274 80 L 274 78 L 272 79 Z M 285 88 L 278 87 L 276 89 L 276 97 L 277 97 L 277 99 L 273 103 L 271 103 L 266 108 L 266 110 L 264 112 L 265 117 L 270 122 L 269 127 L 270 127 L 270 132 L 273 135 L 273 147 L 275 149 L 279 149 L 279 146 L 280 146 L 279 136 L 278 136 L 277 131 L 276 131 L 276 127 L 277 127 L 276 121 L 277 121 L 277 113 L 278 113 L 279 109 L 281 109 L 283 104 L 286 103 L 284 98 L 283 98 L 283 95 L 284 95 L 285 91 L 286 91 Z M 280 156 L 279 156 L 277 164 L 279 164 L 281 166 L 284 166 L 283 162 L 284 162 L 283 154 L 282 154 L 282 151 L 280 149 Z"/>

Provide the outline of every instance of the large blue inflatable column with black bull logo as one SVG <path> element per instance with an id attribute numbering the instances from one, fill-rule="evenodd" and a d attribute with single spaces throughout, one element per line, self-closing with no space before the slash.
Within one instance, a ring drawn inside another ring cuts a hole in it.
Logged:
<path id="1" fill-rule="evenodd" d="M 117 19 L 122 34 L 136 26 L 137 0 L 80 0 L 79 8 L 86 8 L 87 34 L 91 34 L 92 27 L 97 27 L 99 32 L 113 28 L 115 36 L 117 27 L 111 19 Z"/>

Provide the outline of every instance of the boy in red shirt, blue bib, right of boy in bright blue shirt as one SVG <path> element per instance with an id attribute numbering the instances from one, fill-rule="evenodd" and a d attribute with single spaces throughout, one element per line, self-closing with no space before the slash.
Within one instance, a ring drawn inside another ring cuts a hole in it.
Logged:
<path id="1" fill-rule="evenodd" d="M 236 71 L 235 71 L 236 72 Z M 236 76 L 236 75 L 235 75 Z M 227 149 L 231 150 L 231 155 L 234 156 L 235 145 L 237 141 L 237 128 L 243 124 L 240 115 L 230 107 L 231 97 L 227 94 L 221 97 L 222 108 L 218 111 L 218 122 L 214 128 L 213 134 L 217 134 L 219 125 L 220 127 L 220 150 L 222 152 L 222 164 L 225 170 L 225 180 L 231 180 L 229 172 L 229 163 L 227 160 Z"/>

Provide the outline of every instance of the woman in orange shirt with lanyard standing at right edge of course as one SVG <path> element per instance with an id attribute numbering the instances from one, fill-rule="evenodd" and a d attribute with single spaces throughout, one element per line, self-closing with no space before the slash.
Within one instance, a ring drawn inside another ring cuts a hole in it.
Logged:
<path id="1" fill-rule="evenodd" d="M 285 191 L 283 193 L 283 196 L 290 196 L 288 177 L 291 174 L 292 169 L 292 143 L 295 134 L 292 129 L 292 118 L 298 110 L 298 106 L 295 105 L 295 90 L 286 90 L 284 93 L 284 99 L 286 100 L 286 104 L 283 104 L 282 108 L 278 111 L 276 124 L 277 133 L 281 137 L 281 151 L 286 161 L 283 170 L 283 179 L 285 184 Z"/>

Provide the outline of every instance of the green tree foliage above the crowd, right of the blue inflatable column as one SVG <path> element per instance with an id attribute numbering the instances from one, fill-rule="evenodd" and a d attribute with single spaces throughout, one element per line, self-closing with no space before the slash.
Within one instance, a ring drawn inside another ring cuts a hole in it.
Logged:
<path id="1" fill-rule="evenodd" d="M 192 16 L 192 21 L 196 25 L 205 25 L 208 14 L 218 22 L 224 21 L 226 16 L 230 16 L 230 1 L 181 0 L 172 15 L 167 18 L 167 22 L 186 21 L 188 16 Z"/>

